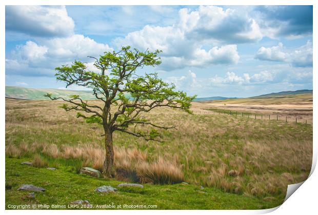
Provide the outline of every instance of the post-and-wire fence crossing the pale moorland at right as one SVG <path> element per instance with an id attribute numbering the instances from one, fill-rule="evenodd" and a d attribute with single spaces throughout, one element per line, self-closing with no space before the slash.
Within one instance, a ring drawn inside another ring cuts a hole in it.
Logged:
<path id="1" fill-rule="evenodd" d="M 284 121 L 286 123 L 296 123 L 296 124 L 311 124 L 311 121 L 304 119 L 302 116 L 287 116 L 281 114 L 259 114 L 259 113 L 246 113 L 237 112 L 232 110 L 195 110 L 193 111 L 195 115 L 231 115 L 235 117 L 242 117 L 254 120 L 268 120 L 268 121 Z"/>

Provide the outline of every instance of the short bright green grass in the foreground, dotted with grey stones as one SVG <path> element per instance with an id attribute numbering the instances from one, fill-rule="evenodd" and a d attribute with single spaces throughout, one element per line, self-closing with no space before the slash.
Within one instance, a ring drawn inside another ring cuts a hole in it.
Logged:
<path id="1" fill-rule="evenodd" d="M 219 189 L 197 185 L 151 185 L 144 188 L 118 188 L 115 193 L 97 193 L 98 186 L 116 187 L 123 183 L 115 180 L 96 179 L 69 171 L 67 166 L 56 170 L 21 165 L 26 159 L 6 158 L 6 209 L 8 205 L 47 204 L 67 205 L 73 201 L 88 200 L 93 206 L 157 205 L 154 209 L 262 209 L 277 206 L 277 202 L 263 201 L 254 197 L 222 192 Z M 43 187 L 45 192 L 36 192 L 35 199 L 24 198 L 30 191 L 17 191 L 22 184 Z M 204 191 L 206 193 L 199 192 Z M 138 208 L 137 208 L 138 209 Z"/>

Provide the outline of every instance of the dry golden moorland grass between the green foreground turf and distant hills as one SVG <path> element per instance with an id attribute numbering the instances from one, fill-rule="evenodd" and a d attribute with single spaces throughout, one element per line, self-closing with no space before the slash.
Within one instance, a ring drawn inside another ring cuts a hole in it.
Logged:
<path id="1" fill-rule="evenodd" d="M 102 170 L 102 128 L 76 119 L 75 112 L 58 108 L 61 104 L 6 100 L 6 155 L 18 158 L 39 153 L 78 159 Z M 161 125 L 177 125 L 177 130 L 162 131 L 164 143 L 115 132 L 118 180 L 186 181 L 226 192 L 277 197 L 284 196 L 288 184 L 305 180 L 310 172 L 311 125 L 189 115 L 165 108 L 147 116 Z"/>

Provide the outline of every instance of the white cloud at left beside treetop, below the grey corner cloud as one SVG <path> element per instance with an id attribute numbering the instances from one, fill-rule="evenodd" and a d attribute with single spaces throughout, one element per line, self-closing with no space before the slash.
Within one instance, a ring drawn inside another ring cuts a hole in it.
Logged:
<path id="1" fill-rule="evenodd" d="M 41 45 L 38 45 L 41 44 Z M 74 60 L 93 62 L 88 55 L 98 57 L 105 51 L 112 51 L 106 44 L 97 43 L 89 37 L 74 34 L 69 37 L 28 41 L 19 45 L 6 59 L 6 72 L 25 75 L 52 75 L 54 68 Z M 89 65 L 92 68 L 92 65 Z"/>

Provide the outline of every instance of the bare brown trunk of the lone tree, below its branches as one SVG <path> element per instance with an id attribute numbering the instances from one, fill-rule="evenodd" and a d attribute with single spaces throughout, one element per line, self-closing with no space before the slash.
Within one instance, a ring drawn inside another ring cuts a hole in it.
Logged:
<path id="1" fill-rule="evenodd" d="M 105 149 L 106 157 L 103 165 L 103 174 L 105 178 L 111 178 L 111 172 L 114 163 L 114 149 L 112 132 L 110 131 L 105 132 Z"/>

